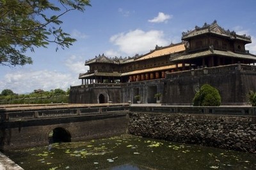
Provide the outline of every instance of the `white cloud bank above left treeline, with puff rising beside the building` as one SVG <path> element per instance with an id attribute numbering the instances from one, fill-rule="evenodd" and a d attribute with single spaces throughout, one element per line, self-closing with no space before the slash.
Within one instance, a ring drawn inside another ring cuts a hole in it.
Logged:
<path id="1" fill-rule="evenodd" d="M 79 73 L 86 73 L 89 69 L 88 66 L 84 66 L 83 57 L 71 55 L 65 60 L 65 66 L 68 68 L 65 72 L 26 69 L 26 67 L 12 70 L 0 78 L 0 92 L 11 89 L 17 94 L 24 94 L 35 89 L 67 90 L 70 86 L 81 85 L 81 80 L 78 79 Z"/>

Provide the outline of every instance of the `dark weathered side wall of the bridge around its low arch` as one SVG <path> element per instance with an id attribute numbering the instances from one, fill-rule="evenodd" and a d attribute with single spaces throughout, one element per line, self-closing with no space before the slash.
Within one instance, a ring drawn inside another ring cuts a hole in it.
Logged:
<path id="1" fill-rule="evenodd" d="M 49 118 L 17 122 L 5 129 L 0 150 L 26 148 L 49 144 L 49 134 L 55 128 L 65 129 L 71 141 L 104 138 L 127 133 L 127 114 L 92 115 L 86 117 Z"/>

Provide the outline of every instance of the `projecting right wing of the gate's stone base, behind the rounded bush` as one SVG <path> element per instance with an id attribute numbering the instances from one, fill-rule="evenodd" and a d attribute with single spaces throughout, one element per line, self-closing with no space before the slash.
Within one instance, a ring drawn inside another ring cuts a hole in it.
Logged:
<path id="1" fill-rule="evenodd" d="M 221 105 L 248 104 L 248 92 L 256 91 L 256 67 L 245 64 L 209 67 L 166 74 L 163 103 L 191 105 L 204 84 L 219 90 Z"/>

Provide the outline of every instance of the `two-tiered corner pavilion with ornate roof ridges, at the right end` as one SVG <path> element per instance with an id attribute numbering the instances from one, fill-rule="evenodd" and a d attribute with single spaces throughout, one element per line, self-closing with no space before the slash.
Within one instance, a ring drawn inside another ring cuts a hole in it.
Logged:
<path id="1" fill-rule="evenodd" d="M 182 32 L 186 51 L 171 57 L 172 63 L 192 64 L 196 67 L 214 67 L 228 64 L 255 63 L 256 55 L 245 49 L 252 43 L 251 37 L 221 28 L 216 21 L 196 26 L 193 31 Z"/>

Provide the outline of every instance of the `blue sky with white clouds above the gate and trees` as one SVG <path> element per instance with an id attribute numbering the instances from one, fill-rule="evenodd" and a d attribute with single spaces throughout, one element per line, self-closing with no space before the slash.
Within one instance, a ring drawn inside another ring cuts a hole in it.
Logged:
<path id="1" fill-rule="evenodd" d="M 33 64 L 0 65 L 0 92 L 67 90 L 81 85 L 78 76 L 89 69 L 86 60 L 102 53 L 107 57 L 145 54 L 156 45 L 180 43 L 182 32 L 214 20 L 226 30 L 251 36 L 246 50 L 256 55 L 255 0 L 91 0 L 91 4 L 83 13 L 72 11 L 60 18 L 61 28 L 77 39 L 70 48 L 56 52 L 56 44 L 51 44 L 26 53 Z"/>

